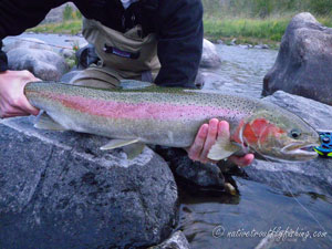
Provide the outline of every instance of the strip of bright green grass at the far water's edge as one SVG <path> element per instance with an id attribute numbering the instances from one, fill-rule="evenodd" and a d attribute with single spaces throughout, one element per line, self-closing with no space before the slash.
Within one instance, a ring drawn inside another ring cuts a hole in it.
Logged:
<path id="1" fill-rule="evenodd" d="M 237 39 L 237 43 L 258 44 L 267 43 L 278 46 L 286 28 L 294 14 L 287 17 L 271 17 L 267 19 L 250 18 L 215 18 L 204 19 L 205 37 L 210 40 L 224 40 L 226 43 Z M 322 17 L 318 20 L 326 27 L 332 27 L 332 18 Z M 29 31 L 41 33 L 76 34 L 82 31 L 81 20 L 69 20 L 61 23 L 41 24 Z"/>

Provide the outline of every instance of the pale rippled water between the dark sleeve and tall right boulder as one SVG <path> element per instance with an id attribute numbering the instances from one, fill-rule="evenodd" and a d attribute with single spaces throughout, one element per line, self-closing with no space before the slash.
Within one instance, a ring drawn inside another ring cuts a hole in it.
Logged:
<path id="1" fill-rule="evenodd" d="M 217 45 L 219 69 L 204 70 L 206 90 L 260 97 L 262 79 L 273 65 L 278 51 Z"/>

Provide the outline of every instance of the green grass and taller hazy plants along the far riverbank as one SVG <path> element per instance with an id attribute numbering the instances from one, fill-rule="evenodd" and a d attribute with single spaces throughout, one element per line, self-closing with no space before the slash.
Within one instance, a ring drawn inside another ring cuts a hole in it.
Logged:
<path id="1" fill-rule="evenodd" d="M 237 43 L 278 44 L 291 18 L 311 12 L 324 25 L 332 27 L 331 0 L 203 0 L 205 35 L 211 40 Z M 82 15 L 70 6 L 61 23 L 41 24 L 30 31 L 76 34 Z"/>

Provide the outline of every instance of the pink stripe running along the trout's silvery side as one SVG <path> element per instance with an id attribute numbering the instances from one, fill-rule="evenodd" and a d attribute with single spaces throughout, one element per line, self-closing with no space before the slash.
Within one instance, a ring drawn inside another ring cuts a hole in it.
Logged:
<path id="1" fill-rule="evenodd" d="M 48 93 L 48 97 L 64 106 L 90 115 L 128 120 L 181 120 L 198 117 L 227 117 L 242 115 L 240 112 L 214 106 L 174 105 L 167 103 L 124 103 Z"/>

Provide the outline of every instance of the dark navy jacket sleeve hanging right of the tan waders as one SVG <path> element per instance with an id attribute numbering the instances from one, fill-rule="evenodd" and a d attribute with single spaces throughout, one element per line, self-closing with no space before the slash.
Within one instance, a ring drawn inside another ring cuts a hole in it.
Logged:
<path id="1" fill-rule="evenodd" d="M 160 72 L 155 81 L 164 86 L 195 87 L 203 50 L 200 0 L 160 1 L 158 58 Z M 164 4 L 164 6 L 163 6 Z M 163 8 L 168 8 L 163 12 Z"/>

